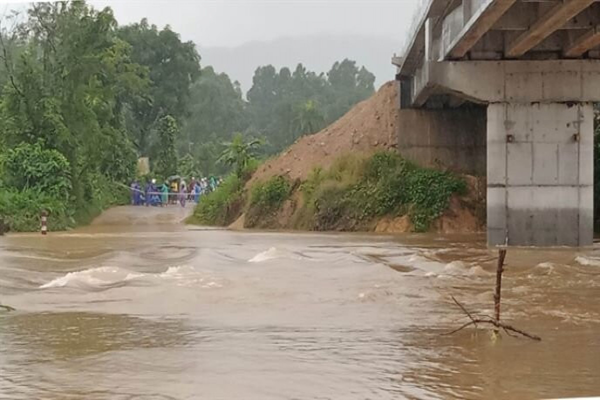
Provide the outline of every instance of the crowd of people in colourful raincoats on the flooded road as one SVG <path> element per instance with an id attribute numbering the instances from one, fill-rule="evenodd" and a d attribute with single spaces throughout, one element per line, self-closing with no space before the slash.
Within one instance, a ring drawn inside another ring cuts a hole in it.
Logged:
<path id="1" fill-rule="evenodd" d="M 200 196 L 215 190 L 222 182 L 214 176 L 210 178 L 192 177 L 190 185 L 184 179 L 172 179 L 158 185 L 156 179 L 140 184 L 137 179 L 131 182 L 131 205 L 133 206 L 167 206 L 168 204 L 181 204 L 185 207 L 186 201 L 198 203 Z"/>

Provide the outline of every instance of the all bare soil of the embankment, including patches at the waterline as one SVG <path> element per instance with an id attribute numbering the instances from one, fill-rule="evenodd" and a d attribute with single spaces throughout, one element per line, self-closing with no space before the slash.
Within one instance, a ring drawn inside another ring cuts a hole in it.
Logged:
<path id="1" fill-rule="evenodd" d="M 315 167 L 331 167 L 344 154 L 368 157 L 378 151 L 397 148 L 398 91 L 395 82 L 388 82 L 372 97 L 356 104 L 346 115 L 322 131 L 298 139 L 286 151 L 266 161 L 257 169 L 245 187 L 272 176 L 284 176 L 294 187 L 305 181 Z M 401 134 L 401 133 L 400 133 Z M 431 225 L 440 233 L 476 232 L 485 228 L 485 181 L 463 176 L 467 183 L 464 196 L 452 195 L 448 209 Z M 295 190 L 280 209 L 261 227 L 297 228 L 297 211 L 302 207 L 302 196 Z M 230 228 L 244 227 L 242 214 Z M 407 232 L 413 226 L 407 215 L 389 215 L 374 221 L 368 229 L 378 232 Z"/>

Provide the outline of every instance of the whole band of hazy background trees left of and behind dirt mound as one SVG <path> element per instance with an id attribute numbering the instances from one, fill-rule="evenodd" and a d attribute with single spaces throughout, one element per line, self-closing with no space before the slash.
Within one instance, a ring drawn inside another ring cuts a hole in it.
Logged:
<path id="1" fill-rule="evenodd" d="M 375 77 L 355 61 L 336 62 L 327 74 L 298 64 L 292 72 L 272 65 L 256 69 L 253 86 L 242 97 L 239 82 L 205 67 L 190 88 L 190 110 L 184 119 L 178 149 L 202 160 L 205 173 L 226 172 L 217 163 L 223 141 L 235 133 L 259 137 L 264 146 L 257 155 L 276 154 L 298 137 L 319 131 L 343 116 L 374 92 Z"/>

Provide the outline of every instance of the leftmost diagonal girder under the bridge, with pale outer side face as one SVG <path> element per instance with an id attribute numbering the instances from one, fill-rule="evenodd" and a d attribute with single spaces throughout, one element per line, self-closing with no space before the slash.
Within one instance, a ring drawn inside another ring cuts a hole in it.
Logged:
<path id="1" fill-rule="evenodd" d="M 445 58 L 463 58 L 516 1 L 487 0 L 464 24 L 457 38 L 448 47 Z"/>

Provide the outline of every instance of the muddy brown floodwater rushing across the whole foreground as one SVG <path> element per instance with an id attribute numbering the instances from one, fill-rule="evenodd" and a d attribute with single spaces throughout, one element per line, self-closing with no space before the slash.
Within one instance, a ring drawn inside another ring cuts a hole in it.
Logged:
<path id="1" fill-rule="evenodd" d="M 600 396 L 600 249 L 509 249 L 502 317 L 484 236 L 187 228 L 120 207 L 0 237 L 2 399 Z"/>

